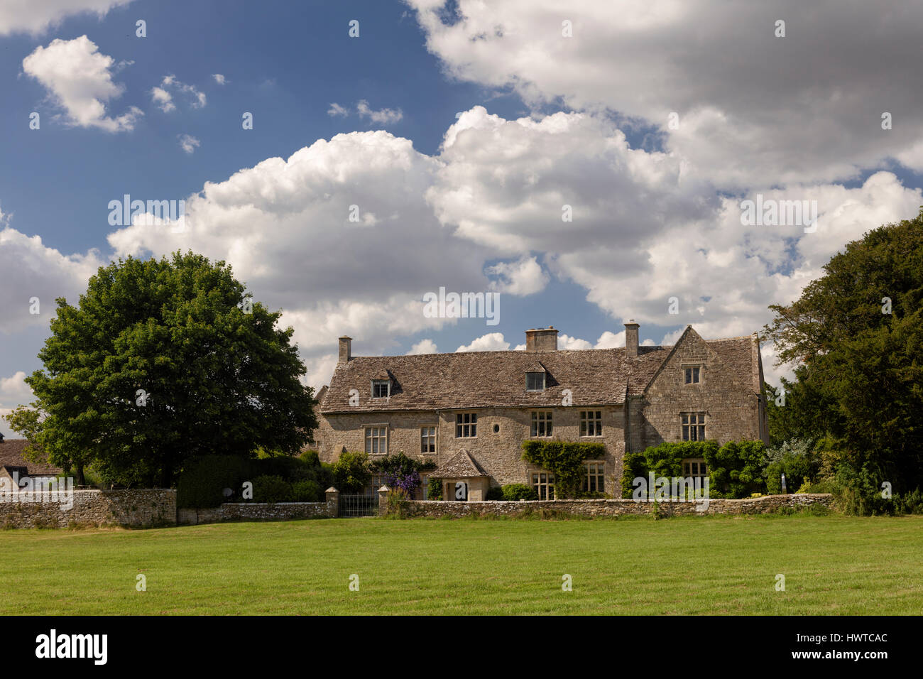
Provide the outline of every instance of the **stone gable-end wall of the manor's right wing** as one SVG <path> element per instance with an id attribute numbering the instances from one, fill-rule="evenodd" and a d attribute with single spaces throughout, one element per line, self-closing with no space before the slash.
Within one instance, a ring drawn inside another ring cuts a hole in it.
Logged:
<path id="1" fill-rule="evenodd" d="M 692 365 L 701 366 L 698 384 L 684 382 L 684 368 Z M 750 352 L 719 356 L 699 334 L 684 334 L 647 391 L 641 430 L 633 432 L 641 437 L 632 442 L 631 450 L 682 441 L 680 415 L 686 412 L 705 413 L 707 439 L 718 443 L 760 439 L 766 432 L 761 427 L 759 379 Z"/>

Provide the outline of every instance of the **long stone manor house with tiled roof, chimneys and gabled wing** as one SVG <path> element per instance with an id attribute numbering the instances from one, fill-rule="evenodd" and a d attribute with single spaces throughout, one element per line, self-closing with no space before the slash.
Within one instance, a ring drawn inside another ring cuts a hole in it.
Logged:
<path id="1" fill-rule="evenodd" d="M 638 328 L 626 323 L 616 349 L 560 350 L 548 326 L 526 331 L 525 351 L 417 356 L 354 357 L 341 337 L 330 386 L 318 392 L 320 459 L 402 452 L 436 464 L 423 476 L 442 479 L 447 499 L 481 500 L 509 483 L 550 499 L 554 478 L 522 460 L 521 443 L 600 442 L 605 457 L 586 461 L 584 490 L 618 497 L 626 452 L 768 442 L 756 334 L 704 340 L 688 326 L 674 346 L 639 346 Z M 704 460 L 684 460 L 684 473 L 706 475 Z"/>

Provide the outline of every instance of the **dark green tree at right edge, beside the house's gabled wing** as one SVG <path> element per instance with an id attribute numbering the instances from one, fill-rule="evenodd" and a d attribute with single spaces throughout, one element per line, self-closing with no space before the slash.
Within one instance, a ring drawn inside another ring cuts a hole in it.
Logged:
<path id="1" fill-rule="evenodd" d="M 923 210 L 850 242 L 765 330 L 780 362 L 785 406 L 773 438 L 845 443 L 848 461 L 895 490 L 923 483 Z"/>

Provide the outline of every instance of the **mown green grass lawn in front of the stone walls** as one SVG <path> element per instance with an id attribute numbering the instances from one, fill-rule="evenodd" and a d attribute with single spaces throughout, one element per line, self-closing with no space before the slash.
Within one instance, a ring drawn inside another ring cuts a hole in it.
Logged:
<path id="1" fill-rule="evenodd" d="M 2 530 L 0 583 L 4 614 L 920 614 L 923 516 Z"/>

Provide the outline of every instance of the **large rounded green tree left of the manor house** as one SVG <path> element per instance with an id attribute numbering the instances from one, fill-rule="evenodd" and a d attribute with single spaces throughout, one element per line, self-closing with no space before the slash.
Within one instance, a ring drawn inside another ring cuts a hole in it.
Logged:
<path id="1" fill-rule="evenodd" d="M 128 257 L 90 278 L 78 306 L 57 304 L 44 368 L 26 379 L 43 416 L 36 443 L 56 464 L 169 486 L 195 455 L 311 443 L 316 402 L 293 330 L 223 261 Z"/>

